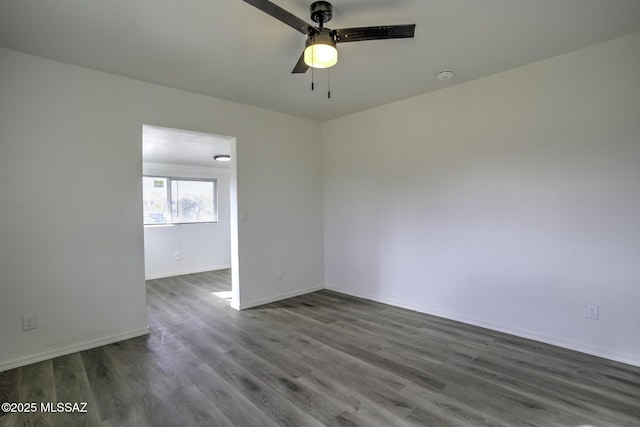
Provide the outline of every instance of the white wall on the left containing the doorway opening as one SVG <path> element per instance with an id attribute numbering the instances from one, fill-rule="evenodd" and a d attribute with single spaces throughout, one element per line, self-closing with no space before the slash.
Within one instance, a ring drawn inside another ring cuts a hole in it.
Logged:
<path id="1" fill-rule="evenodd" d="M 318 123 L 0 49 L 0 370 L 146 332 L 143 124 L 237 138 L 237 306 L 322 287 Z"/>

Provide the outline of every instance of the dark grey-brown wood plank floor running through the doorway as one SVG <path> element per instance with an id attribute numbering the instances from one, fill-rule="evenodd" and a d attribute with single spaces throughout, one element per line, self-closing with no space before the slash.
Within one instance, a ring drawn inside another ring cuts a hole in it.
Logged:
<path id="1" fill-rule="evenodd" d="M 0 373 L 1 426 L 640 426 L 640 368 L 330 291 L 237 312 L 147 282 L 151 334 Z"/>

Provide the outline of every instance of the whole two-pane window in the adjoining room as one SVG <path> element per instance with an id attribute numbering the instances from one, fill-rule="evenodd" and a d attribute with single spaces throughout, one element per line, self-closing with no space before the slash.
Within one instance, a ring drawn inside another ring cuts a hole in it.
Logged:
<path id="1" fill-rule="evenodd" d="M 142 177 L 144 224 L 218 222 L 216 180 Z"/>

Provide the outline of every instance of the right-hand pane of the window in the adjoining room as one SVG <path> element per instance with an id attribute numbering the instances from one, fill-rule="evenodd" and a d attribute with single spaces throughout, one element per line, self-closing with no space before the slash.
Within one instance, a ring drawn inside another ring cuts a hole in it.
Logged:
<path id="1" fill-rule="evenodd" d="M 216 222 L 215 182 L 172 180 L 171 213 L 174 223 Z"/>

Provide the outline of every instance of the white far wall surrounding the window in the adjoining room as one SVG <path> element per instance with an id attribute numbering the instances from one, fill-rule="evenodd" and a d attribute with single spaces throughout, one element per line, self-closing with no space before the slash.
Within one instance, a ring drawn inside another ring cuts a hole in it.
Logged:
<path id="1" fill-rule="evenodd" d="M 144 175 L 212 178 L 218 193 L 218 222 L 144 227 L 145 278 L 177 276 L 231 267 L 229 169 L 143 163 Z M 174 253 L 180 252 L 180 260 Z"/>

